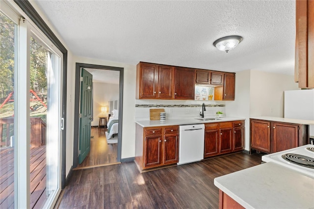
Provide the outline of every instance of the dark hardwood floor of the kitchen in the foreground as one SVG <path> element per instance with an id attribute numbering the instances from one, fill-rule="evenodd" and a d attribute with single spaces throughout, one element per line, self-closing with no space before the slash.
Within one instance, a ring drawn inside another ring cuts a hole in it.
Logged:
<path id="1" fill-rule="evenodd" d="M 214 178 L 261 164 L 236 153 L 140 173 L 134 162 L 73 171 L 59 208 L 218 209 Z"/>

